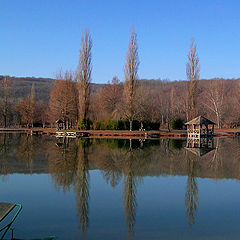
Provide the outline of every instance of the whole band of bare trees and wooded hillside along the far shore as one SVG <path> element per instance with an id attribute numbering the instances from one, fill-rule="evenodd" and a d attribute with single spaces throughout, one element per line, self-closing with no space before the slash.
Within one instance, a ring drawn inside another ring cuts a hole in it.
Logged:
<path id="1" fill-rule="evenodd" d="M 198 115 L 213 120 L 219 128 L 240 125 L 240 79 L 199 80 L 199 58 L 193 41 L 186 81 L 139 80 L 134 29 L 123 82 L 114 76 L 104 85 L 91 83 L 91 49 L 91 36 L 86 30 L 77 71 L 60 72 L 57 80 L 37 79 L 31 87 L 28 81 L 27 88 L 23 86 L 24 98 L 19 98 L 21 91 L 14 94 L 13 78 L 0 77 L 1 126 L 55 127 L 57 121 L 58 127 L 64 129 L 170 130 L 174 119 L 185 122 Z"/>

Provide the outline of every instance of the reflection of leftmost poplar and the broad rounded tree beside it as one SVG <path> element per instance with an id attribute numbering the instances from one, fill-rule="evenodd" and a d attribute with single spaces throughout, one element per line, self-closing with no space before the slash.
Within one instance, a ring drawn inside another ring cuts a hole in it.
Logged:
<path id="1" fill-rule="evenodd" d="M 83 237 L 89 225 L 89 139 L 60 138 L 48 148 L 49 172 L 57 190 L 74 187 L 79 228 Z"/>

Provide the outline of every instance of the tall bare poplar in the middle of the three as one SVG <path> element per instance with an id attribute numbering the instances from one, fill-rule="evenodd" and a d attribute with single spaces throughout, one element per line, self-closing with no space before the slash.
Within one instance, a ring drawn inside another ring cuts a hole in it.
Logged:
<path id="1" fill-rule="evenodd" d="M 131 29 L 128 51 L 126 55 L 126 63 L 124 67 L 124 112 L 130 123 L 130 131 L 132 131 L 132 122 L 136 115 L 136 85 L 137 72 L 139 67 L 137 34 Z"/>

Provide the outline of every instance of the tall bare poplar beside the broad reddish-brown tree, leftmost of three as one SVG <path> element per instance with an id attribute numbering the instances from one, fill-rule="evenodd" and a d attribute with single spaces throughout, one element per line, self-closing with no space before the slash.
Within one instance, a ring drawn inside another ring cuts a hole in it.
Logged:
<path id="1" fill-rule="evenodd" d="M 79 56 L 76 80 L 79 94 L 79 121 L 86 123 L 90 100 L 90 83 L 92 72 L 92 39 L 86 29 L 82 35 L 81 50 Z"/>

